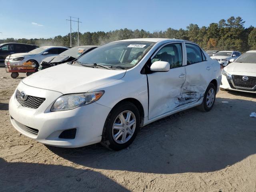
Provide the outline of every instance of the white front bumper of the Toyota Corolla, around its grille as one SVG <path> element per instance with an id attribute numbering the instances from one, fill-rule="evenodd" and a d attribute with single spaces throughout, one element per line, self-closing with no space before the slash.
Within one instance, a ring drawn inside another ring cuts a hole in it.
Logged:
<path id="1" fill-rule="evenodd" d="M 25 136 L 46 145 L 59 147 L 81 147 L 101 141 L 103 126 L 111 108 L 96 102 L 73 110 L 50 112 L 60 92 L 34 88 L 20 83 L 18 90 L 27 95 L 40 96 L 46 100 L 37 109 L 23 107 L 16 99 L 16 92 L 9 102 L 12 125 Z M 38 130 L 32 134 L 27 128 Z M 64 130 L 76 128 L 74 139 L 59 138 Z"/>

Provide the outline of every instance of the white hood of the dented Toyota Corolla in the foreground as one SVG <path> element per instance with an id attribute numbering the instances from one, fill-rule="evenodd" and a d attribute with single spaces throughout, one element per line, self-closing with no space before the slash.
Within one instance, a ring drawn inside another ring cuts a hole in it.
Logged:
<path id="1" fill-rule="evenodd" d="M 83 93 L 121 79 L 126 70 L 108 70 L 62 64 L 36 72 L 22 82 L 28 86 L 53 90 L 62 94 Z"/>

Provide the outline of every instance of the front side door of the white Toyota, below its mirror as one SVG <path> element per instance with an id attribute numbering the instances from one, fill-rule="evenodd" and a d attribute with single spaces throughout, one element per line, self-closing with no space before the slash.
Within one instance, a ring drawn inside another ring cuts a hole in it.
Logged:
<path id="1" fill-rule="evenodd" d="M 183 55 L 182 43 L 173 42 L 161 46 L 151 57 L 150 65 L 155 61 L 166 61 L 170 63 L 170 71 L 150 72 L 147 74 L 149 94 L 148 119 L 172 111 L 179 106 L 178 100 L 181 87 L 186 78 Z"/>

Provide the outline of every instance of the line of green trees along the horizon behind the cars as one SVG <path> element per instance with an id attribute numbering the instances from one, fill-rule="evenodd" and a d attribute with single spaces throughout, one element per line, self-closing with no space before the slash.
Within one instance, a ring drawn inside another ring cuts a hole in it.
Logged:
<path id="1" fill-rule="evenodd" d="M 237 50 L 245 52 L 256 50 L 256 28 L 244 27 L 244 20 L 241 17 L 230 17 L 227 20 L 220 20 L 218 23 L 211 23 L 208 27 L 197 24 L 189 24 L 186 29 L 179 30 L 168 28 L 165 31 L 150 33 L 145 30 L 130 30 L 127 28 L 109 32 L 85 32 L 79 33 L 80 45 L 102 45 L 107 42 L 130 38 L 175 38 L 189 40 L 197 43 L 204 50 Z M 77 46 L 77 32 L 72 33 L 72 46 Z M 6 38 L 4 42 L 18 42 L 35 44 L 38 46 L 70 46 L 70 33 L 65 36 L 40 39 L 14 39 Z"/>

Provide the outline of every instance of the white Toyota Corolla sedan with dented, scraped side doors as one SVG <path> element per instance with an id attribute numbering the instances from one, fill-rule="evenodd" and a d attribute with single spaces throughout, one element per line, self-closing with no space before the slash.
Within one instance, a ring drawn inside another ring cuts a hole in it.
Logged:
<path id="1" fill-rule="evenodd" d="M 146 124 L 194 106 L 211 110 L 220 82 L 220 64 L 197 44 L 121 40 L 23 79 L 10 120 L 46 145 L 120 150 Z"/>

